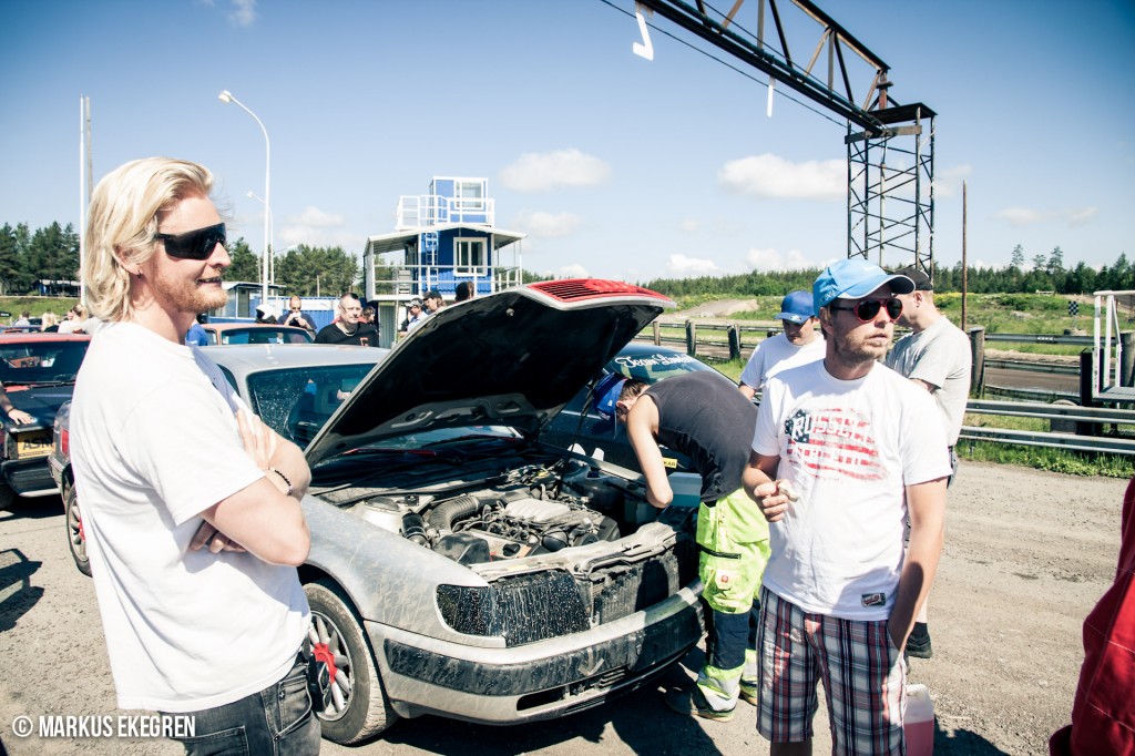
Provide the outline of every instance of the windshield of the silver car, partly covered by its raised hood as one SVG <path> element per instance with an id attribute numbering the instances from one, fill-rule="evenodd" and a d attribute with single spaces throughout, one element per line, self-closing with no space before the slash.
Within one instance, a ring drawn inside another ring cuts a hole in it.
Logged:
<path id="1" fill-rule="evenodd" d="M 249 405 L 278 434 L 306 446 L 355 386 L 375 367 L 310 366 L 249 376 Z"/>

